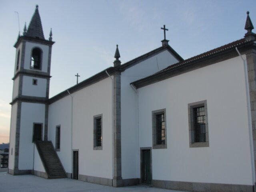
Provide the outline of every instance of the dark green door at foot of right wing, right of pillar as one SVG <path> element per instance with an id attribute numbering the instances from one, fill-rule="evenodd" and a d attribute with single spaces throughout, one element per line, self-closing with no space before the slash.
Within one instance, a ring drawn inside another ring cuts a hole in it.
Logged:
<path id="1" fill-rule="evenodd" d="M 142 150 L 141 182 L 151 184 L 151 157 L 150 149 Z"/>

